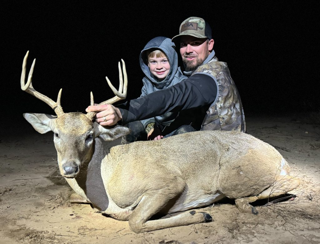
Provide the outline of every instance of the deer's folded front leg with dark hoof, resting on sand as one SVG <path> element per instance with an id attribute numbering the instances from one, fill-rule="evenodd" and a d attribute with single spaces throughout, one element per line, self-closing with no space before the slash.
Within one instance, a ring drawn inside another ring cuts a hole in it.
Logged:
<path id="1" fill-rule="evenodd" d="M 148 220 L 163 209 L 172 198 L 172 196 L 168 197 L 168 194 L 166 193 L 156 193 L 144 196 L 129 217 L 130 229 L 133 232 L 140 233 L 182 225 L 210 222 L 212 220 L 212 217 L 208 213 L 197 212 L 195 210 L 187 211 L 166 219 Z"/>

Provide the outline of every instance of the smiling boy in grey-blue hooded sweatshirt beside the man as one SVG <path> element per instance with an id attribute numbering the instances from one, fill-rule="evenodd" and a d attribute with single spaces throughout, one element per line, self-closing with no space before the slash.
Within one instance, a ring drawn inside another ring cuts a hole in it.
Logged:
<path id="1" fill-rule="evenodd" d="M 187 79 L 178 71 L 178 54 L 170 38 L 158 36 L 150 40 L 140 53 L 140 66 L 146 75 L 141 96 L 166 89 Z M 164 137 L 194 131 L 190 125 L 179 120 L 179 112 L 168 112 L 161 116 L 135 121 L 126 126 L 132 132 L 122 138 L 122 144 L 137 140 L 159 140 Z M 177 118 L 178 117 L 178 118 Z"/>

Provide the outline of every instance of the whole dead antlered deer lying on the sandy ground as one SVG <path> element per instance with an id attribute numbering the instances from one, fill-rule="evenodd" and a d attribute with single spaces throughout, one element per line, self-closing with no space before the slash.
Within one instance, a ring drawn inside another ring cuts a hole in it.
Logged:
<path id="1" fill-rule="evenodd" d="M 129 220 L 136 233 L 211 221 L 208 213 L 198 210 L 149 219 L 158 213 L 203 207 L 223 197 L 235 199 L 242 212 L 256 213 L 249 203 L 287 193 L 300 184 L 289 176 L 287 162 L 274 147 L 242 132 L 196 131 L 105 147 L 103 141 L 120 138 L 129 129 L 102 127 L 93 122 L 95 113 L 64 113 L 61 90 L 54 102 L 32 87 L 35 60 L 25 84 L 27 58 L 28 52 L 21 89 L 47 103 L 57 116 L 26 113 L 25 119 L 42 134 L 53 131 L 60 173 L 72 189 L 101 213 Z M 118 91 L 106 77 L 116 96 L 100 104 L 126 97 L 122 63 L 124 83 L 119 62 Z"/>

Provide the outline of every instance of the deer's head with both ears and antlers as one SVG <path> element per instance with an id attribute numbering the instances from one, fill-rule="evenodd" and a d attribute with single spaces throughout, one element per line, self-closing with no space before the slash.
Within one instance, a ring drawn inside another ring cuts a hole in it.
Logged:
<path id="1" fill-rule="evenodd" d="M 39 98 L 40 100 L 44 101 L 54 110 L 57 116 L 53 116 L 50 114 L 32 113 L 26 113 L 23 114 L 23 116 L 39 133 L 44 134 L 48 131 L 53 131 L 53 140 L 58 153 L 58 164 L 60 173 L 64 177 L 74 178 L 78 175 L 81 166 L 84 163 L 91 161 L 95 149 L 95 138 L 99 137 L 101 140 L 104 141 L 115 140 L 117 138 L 129 134 L 130 129 L 123 126 L 103 127 L 98 123 L 93 122 L 93 117 L 96 114 L 94 112 L 89 112 L 87 114 L 64 113 L 60 105 L 62 89 L 60 89 L 58 93 L 57 102 L 54 102 L 52 99 L 37 92 L 33 88 L 32 74 L 36 59 L 34 59 L 32 63 L 28 75 L 28 81 L 25 84 L 28 53 L 29 51 L 25 55 L 22 64 L 21 89 L 30 93 L 36 98 Z M 106 77 L 108 85 L 110 86 L 110 88 L 116 96 L 100 103 L 99 105 L 113 104 L 119 100 L 126 98 L 128 79 L 123 60 L 122 64 L 124 77 L 122 76 L 120 62 L 118 63 L 120 80 L 118 91 L 111 84 L 108 77 Z M 90 104 L 94 105 L 92 92 Z"/>

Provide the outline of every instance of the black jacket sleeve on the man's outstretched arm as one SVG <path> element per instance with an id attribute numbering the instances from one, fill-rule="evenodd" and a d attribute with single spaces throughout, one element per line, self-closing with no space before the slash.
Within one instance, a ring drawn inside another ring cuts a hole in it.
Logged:
<path id="1" fill-rule="evenodd" d="M 195 74 L 167 89 L 132 99 L 119 108 L 122 124 L 148 119 L 166 112 L 178 112 L 212 104 L 217 96 L 217 84 L 211 75 Z"/>

